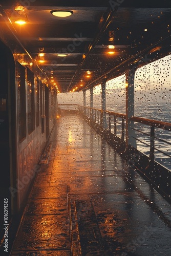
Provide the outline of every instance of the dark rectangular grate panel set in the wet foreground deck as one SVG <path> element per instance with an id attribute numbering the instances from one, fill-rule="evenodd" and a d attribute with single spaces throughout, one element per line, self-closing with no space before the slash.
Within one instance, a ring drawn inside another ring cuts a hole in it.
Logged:
<path id="1" fill-rule="evenodd" d="M 96 216 L 91 201 L 75 200 L 70 203 L 72 232 L 77 232 L 77 236 L 72 237 L 77 237 L 78 240 L 72 241 L 72 243 L 79 243 L 79 255 L 104 256 L 105 253 L 102 246 L 101 233 L 96 221 Z M 74 246 L 73 255 L 75 255 Z"/>

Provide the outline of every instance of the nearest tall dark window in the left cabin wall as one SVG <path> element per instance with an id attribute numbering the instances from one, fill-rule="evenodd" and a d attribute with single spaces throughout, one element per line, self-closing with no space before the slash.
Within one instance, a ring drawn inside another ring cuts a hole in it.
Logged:
<path id="1" fill-rule="evenodd" d="M 18 106 L 18 132 L 19 141 L 26 138 L 26 82 L 25 67 L 16 63 L 17 78 L 17 106 Z"/>

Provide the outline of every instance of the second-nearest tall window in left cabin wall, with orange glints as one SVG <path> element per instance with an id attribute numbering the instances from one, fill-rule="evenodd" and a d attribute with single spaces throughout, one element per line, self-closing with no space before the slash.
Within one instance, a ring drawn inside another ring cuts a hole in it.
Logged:
<path id="1" fill-rule="evenodd" d="M 28 132 L 35 129 L 35 105 L 34 105 L 34 74 L 27 69 L 27 97 L 28 97 Z"/>

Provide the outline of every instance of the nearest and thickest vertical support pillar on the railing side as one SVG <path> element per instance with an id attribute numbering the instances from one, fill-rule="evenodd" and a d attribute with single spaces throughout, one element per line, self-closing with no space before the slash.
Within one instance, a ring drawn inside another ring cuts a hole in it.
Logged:
<path id="1" fill-rule="evenodd" d="M 129 70 L 126 74 L 126 146 L 131 144 L 136 148 L 134 121 L 130 120 L 134 116 L 134 77 L 135 71 Z"/>

